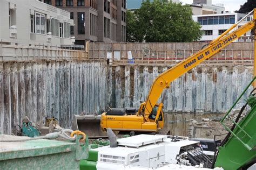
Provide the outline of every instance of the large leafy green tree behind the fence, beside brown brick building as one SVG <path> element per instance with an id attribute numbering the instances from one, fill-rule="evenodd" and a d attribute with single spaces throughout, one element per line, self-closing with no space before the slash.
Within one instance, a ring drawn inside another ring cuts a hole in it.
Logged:
<path id="1" fill-rule="evenodd" d="M 189 42 L 201 38 L 189 5 L 146 0 L 134 13 L 127 11 L 127 41 Z"/>

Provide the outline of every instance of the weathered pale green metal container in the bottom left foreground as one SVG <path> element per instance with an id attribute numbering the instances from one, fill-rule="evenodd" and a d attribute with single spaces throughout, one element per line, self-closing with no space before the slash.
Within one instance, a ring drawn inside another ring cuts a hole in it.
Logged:
<path id="1" fill-rule="evenodd" d="M 88 144 L 37 139 L 18 142 L 1 142 L 22 139 L 0 135 L 1 169 L 79 169 L 79 161 L 88 158 Z"/>

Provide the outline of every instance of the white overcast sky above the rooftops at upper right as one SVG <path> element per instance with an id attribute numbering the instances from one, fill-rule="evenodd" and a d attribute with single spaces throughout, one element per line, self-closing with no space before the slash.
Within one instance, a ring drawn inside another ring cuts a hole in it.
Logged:
<path id="1" fill-rule="evenodd" d="M 193 0 L 180 0 L 183 4 L 192 4 Z M 224 4 L 226 11 L 234 12 L 235 10 L 239 10 L 240 5 L 247 2 L 247 0 L 212 0 L 212 4 Z"/>

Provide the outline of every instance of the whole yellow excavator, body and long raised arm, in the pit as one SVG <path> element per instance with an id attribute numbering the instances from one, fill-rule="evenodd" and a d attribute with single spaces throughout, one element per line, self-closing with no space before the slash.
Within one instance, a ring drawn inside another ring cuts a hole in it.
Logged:
<path id="1" fill-rule="evenodd" d="M 248 15 L 251 15 L 251 13 L 249 13 Z M 173 80 L 177 79 L 179 76 L 186 73 L 188 70 L 199 65 L 204 60 L 210 59 L 211 56 L 217 54 L 221 49 L 228 46 L 231 42 L 238 39 L 246 32 L 252 30 L 252 35 L 254 36 L 256 22 L 255 9 L 253 20 L 237 28 L 238 24 L 248 15 L 242 18 L 238 23 L 233 24 L 228 30 L 226 30 L 218 38 L 212 40 L 200 51 L 179 62 L 176 66 L 166 70 L 164 73 L 158 75 L 151 86 L 146 101 L 140 104 L 138 112 L 136 112 L 136 109 L 134 108 L 111 109 L 107 112 L 104 112 L 100 119 L 101 128 L 103 130 L 106 130 L 106 128 L 111 128 L 112 130 L 117 131 L 144 132 L 158 132 L 160 129 L 163 129 L 163 100 L 166 94 L 166 89 L 170 88 L 170 83 Z M 234 31 L 231 32 L 233 29 Z M 254 72 L 256 71 L 254 70 Z M 163 94 L 161 102 L 157 103 L 160 95 L 163 93 L 164 90 L 165 93 Z M 131 112 L 133 112 L 134 114 L 131 114 Z"/>

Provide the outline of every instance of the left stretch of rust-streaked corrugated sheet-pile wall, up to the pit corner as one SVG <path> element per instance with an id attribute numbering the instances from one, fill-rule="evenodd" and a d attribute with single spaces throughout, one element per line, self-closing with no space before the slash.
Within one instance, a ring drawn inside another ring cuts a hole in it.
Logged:
<path id="1" fill-rule="evenodd" d="M 25 116 L 32 122 L 56 117 L 70 128 L 73 114 L 103 111 L 106 105 L 103 61 L 0 63 L 0 133 L 16 133 Z"/>

